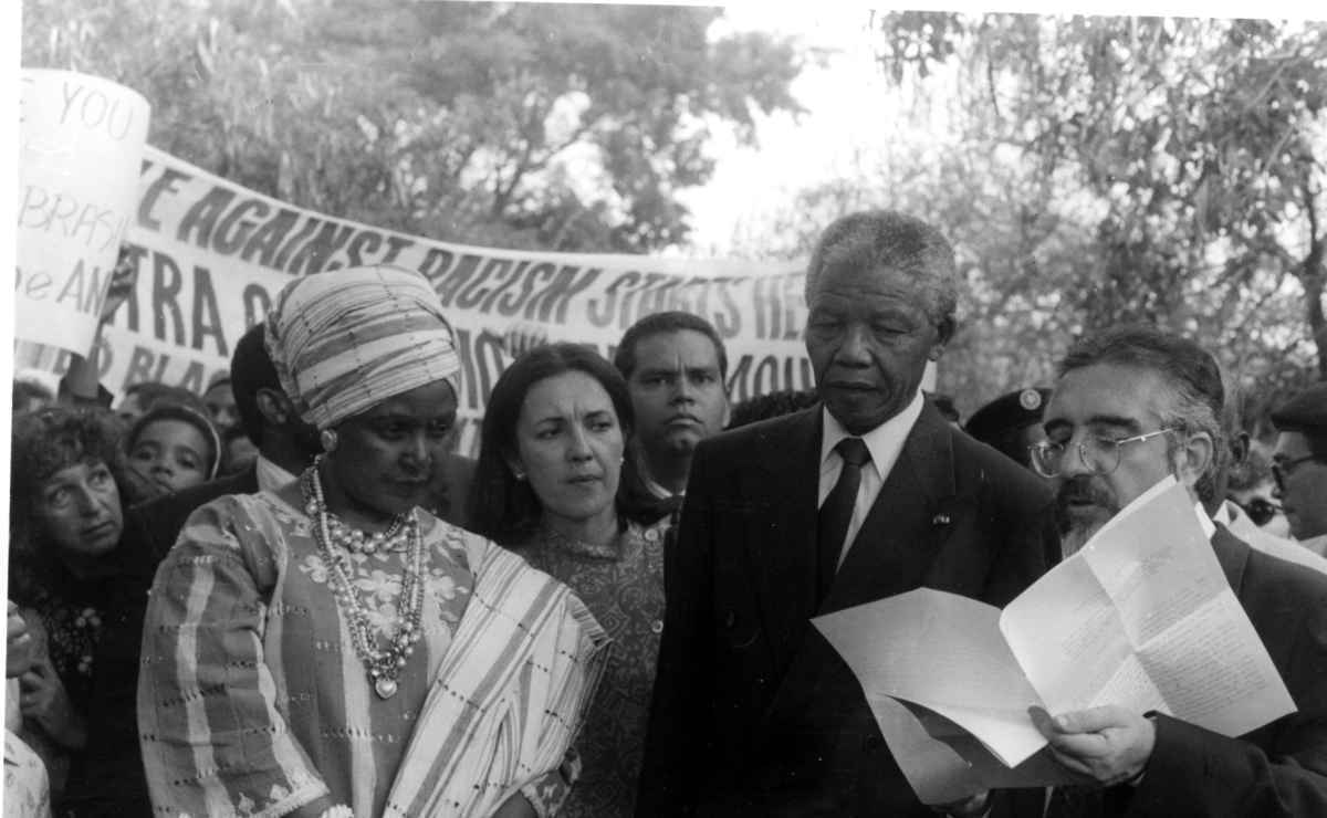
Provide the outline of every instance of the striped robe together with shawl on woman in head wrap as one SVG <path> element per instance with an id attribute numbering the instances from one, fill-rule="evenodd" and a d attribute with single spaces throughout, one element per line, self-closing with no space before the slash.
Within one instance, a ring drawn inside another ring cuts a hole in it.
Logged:
<path id="1" fill-rule="evenodd" d="M 480 778 L 479 793 L 559 781 L 604 652 L 580 601 L 417 510 L 429 554 L 423 638 L 398 693 L 382 700 L 350 648 L 309 520 L 283 496 L 203 506 L 158 569 L 138 693 L 154 813 L 275 817 L 324 794 L 360 817 L 399 814 L 389 794 L 443 803 L 398 781 L 419 764 L 450 776 L 426 782 L 447 798 Z M 399 591 L 399 574 L 370 562 L 356 582 L 372 597 Z M 472 728 L 445 724 L 441 691 L 483 709 L 462 720 Z M 427 757 L 443 752 L 454 758 Z"/>

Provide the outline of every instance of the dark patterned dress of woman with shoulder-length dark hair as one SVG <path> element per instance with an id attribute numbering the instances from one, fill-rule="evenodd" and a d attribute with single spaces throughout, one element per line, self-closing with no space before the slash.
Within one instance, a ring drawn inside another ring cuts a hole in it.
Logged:
<path id="1" fill-rule="evenodd" d="M 664 632 L 664 541 L 669 518 L 636 524 L 608 546 L 539 534 L 515 548 L 532 566 L 565 582 L 613 639 L 576 750 L 580 780 L 559 815 L 632 815 L 645 748 L 650 693 Z"/>

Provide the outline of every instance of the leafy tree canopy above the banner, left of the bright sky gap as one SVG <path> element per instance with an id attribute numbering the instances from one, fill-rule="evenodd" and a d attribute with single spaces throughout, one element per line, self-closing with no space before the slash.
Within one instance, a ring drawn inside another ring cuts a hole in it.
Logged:
<path id="1" fill-rule="evenodd" d="M 27 0 L 24 64 L 153 103 L 150 141 L 299 205 L 437 239 L 645 252 L 714 127 L 800 110 L 794 42 L 713 8 Z"/>

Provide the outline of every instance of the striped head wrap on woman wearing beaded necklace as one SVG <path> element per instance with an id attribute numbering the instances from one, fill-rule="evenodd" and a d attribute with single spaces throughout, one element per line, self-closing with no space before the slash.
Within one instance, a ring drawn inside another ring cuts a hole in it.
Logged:
<path id="1" fill-rule="evenodd" d="M 296 278 L 267 317 L 281 388 L 320 430 L 413 388 L 447 380 L 460 358 L 429 281 L 389 265 Z"/>

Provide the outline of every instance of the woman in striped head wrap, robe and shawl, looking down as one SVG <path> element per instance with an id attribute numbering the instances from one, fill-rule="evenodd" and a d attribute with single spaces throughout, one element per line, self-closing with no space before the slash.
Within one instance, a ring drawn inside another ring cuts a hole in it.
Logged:
<path id="1" fill-rule="evenodd" d="M 605 658 L 565 586 L 422 510 L 459 370 L 421 276 L 297 280 L 268 316 L 324 455 L 190 518 L 143 628 L 155 811 L 549 814 Z"/>

